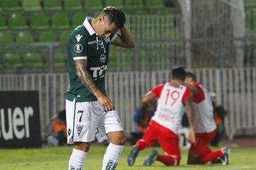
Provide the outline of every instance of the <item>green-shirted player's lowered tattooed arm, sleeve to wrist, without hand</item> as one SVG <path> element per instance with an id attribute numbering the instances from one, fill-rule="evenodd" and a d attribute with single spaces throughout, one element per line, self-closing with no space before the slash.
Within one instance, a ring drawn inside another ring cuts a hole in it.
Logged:
<path id="1" fill-rule="evenodd" d="M 89 72 L 86 69 L 87 61 L 76 61 L 75 62 L 75 69 L 76 74 L 78 75 L 78 79 L 81 83 L 95 96 L 97 96 L 100 90 L 95 85 L 95 81 L 93 81 L 92 77 L 90 76 Z"/>

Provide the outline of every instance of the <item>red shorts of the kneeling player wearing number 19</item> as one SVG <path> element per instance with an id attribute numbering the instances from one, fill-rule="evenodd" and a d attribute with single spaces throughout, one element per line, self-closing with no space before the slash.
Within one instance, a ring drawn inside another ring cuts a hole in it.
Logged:
<path id="1" fill-rule="evenodd" d="M 168 128 L 159 125 L 159 123 L 156 123 L 154 120 L 151 120 L 149 123 L 149 127 L 142 136 L 142 139 L 149 147 L 151 147 L 154 144 L 154 141 L 157 140 L 165 154 L 176 159 L 181 159 L 178 135 Z"/>

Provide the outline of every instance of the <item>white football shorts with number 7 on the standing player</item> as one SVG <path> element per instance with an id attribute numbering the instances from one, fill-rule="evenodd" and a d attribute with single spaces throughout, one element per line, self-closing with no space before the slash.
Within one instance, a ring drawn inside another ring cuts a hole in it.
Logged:
<path id="1" fill-rule="evenodd" d="M 107 133 L 123 130 L 117 111 L 103 111 L 97 101 L 66 100 L 68 144 L 107 140 Z"/>

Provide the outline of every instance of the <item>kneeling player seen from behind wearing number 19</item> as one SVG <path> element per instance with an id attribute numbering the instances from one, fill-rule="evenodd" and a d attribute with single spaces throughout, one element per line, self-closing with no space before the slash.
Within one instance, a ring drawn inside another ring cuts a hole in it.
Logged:
<path id="1" fill-rule="evenodd" d="M 183 68 L 178 67 L 172 70 L 171 80 L 183 82 L 186 72 Z M 132 166 L 137 154 L 146 147 L 151 147 L 154 141 L 158 141 L 164 154 L 158 154 L 153 150 L 149 159 L 144 161 L 144 166 L 150 166 L 154 161 L 162 162 L 168 166 L 178 165 L 181 160 L 181 152 L 178 142 L 178 128 L 181 125 L 183 108 L 186 106 L 188 122 L 190 125 L 190 134 L 188 140 L 195 142 L 193 131 L 191 106 L 191 94 L 186 86 L 171 86 L 170 82 L 160 84 L 154 87 L 146 96 L 142 98 L 142 103 L 151 103 L 158 101 L 154 116 L 151 118 L 149 127 L 144 133 L 141 140 L 134 145 L 128 157 L 128 165 Z"/>

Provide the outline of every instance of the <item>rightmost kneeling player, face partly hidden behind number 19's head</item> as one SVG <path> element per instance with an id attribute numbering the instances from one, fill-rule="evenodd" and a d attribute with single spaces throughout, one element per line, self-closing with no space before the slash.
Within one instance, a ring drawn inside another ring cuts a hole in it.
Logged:
<path id="1" fill-rule="evenodd" d="M 196 143 L 191 145 L 188 152 L 188 164 L 206 164 L 218 158 L 222 159 L 223 165 L 228 164 L 229 150 L 227 147 L 215 152 L 208 147 L 216 134 L 213 105 L 208 91 L 201 84 L 196 83 L 196 76 L 191 72 L 186 73 L 185 82 L 185 86 L 193 95 L 193 125 L 196 132 Z"/>

